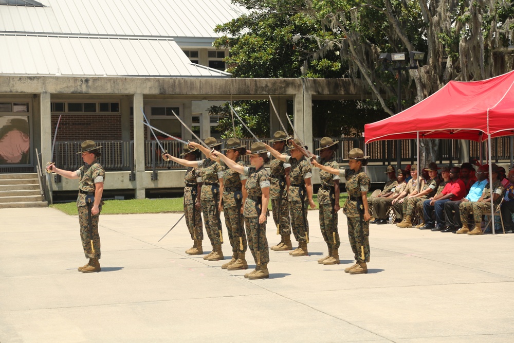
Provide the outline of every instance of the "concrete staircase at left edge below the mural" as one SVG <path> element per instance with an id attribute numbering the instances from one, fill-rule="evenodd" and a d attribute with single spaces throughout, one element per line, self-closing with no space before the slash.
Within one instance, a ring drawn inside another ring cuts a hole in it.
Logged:
<path id="1" fill-rule="evenodd" d="M 48 207 L 37 173 L 0 174 L 0 208 Z"/>

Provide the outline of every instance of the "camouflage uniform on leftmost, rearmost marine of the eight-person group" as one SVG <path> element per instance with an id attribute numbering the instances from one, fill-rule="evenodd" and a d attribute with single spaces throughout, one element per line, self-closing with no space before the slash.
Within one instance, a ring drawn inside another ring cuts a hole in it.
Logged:
<path id="1" fill-rule="evenodd" d="M 195 207 L 198 192 L 198 182 L 201 182 L 201 171 L 197 168 L 189 167 L 184 176 L 184 213 L 186 214 L 186 225 L 191 239 L 202 241 L 204 230 L 201 224 L 201 210 Z"/>

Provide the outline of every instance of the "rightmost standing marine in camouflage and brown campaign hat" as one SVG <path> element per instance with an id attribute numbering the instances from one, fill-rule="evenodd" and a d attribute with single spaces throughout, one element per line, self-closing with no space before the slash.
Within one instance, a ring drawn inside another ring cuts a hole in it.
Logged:
<path id="1" fill-rule="evenodd" d="M 368 206 L 364 204 L 362 192 L 368 192 L 371 182 L 362 167 L 368 163 L 369 156 L 364 156 L 362 150 L 357 148 L 352 149 L 348 155 L 351 169 L 344 171 L 348 198 L 344 203 L 343 213 L 347 218 L 348 239 L 357 262 L 355 265 L 345 268 L 344 271 L 350 274 L 365 274 L 368 273 L 366 263 L 370 262 L 369 219 L 371 216 L 368 213 Z M 355 170 L 357 168 L 359 169 Z M 364 198 L 367 203 L 367 197 L 364 196 Z"/>

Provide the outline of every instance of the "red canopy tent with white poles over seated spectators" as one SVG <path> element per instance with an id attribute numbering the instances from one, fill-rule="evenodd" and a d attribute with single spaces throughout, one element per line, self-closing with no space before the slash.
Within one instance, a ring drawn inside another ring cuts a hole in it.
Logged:
<path id="1" fill-rule="evenodd" d="M 483 81 L 450 81 L 409 109 L 364 125 L 365 144 L 383 139 L 488 140 L 489 182 L 492 182 L 490 140 L 513 134 L 514 71 Z M 417 156 L 419 166 L 419 151 Z M 492 206 L 491 216 L 494 233 Z"/>

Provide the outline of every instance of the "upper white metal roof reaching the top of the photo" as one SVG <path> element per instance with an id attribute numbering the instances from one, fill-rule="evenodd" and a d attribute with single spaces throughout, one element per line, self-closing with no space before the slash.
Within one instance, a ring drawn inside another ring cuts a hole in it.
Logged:
<path id="1" fill-rule="evenodd" d="M 213 29 L 245 12 L 230 0 L 40 0 L 0 6 L 0 31 L 173 37 L 212 43 Z M 203 39 L 203 40 L 202 40 Z M 211 45 L 211 44 L 209 44 Z"/>

